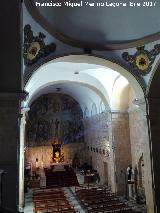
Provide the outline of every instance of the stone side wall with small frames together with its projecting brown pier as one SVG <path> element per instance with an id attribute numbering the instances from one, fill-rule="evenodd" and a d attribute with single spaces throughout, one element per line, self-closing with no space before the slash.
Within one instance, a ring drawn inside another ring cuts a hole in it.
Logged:
<path id="1" fill-rule="evenodd" d="M 125 175 L 131 163 L 128 113 L 101 113 L 84 120 L 88 163 L 98 171 L 101 183 L 125 194 Z"/>

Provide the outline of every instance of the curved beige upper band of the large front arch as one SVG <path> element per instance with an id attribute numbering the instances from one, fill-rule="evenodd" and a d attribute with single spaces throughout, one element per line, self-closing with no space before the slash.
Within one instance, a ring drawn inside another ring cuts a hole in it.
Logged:
<path id="1" fill-rule="evenodd" d="M 46 63 L 42 64 L 41 66 L 39 66 L 38 68 L 36 68 L 36 70 L 34 69 L 34 72 L 32 73 L 31 77 L 27 80 L 27 83 L 25 85 L 25 89 L 27 90 L 27 87 L 30 87 L 29 84 L 31 85 L 31 79 L 33 79 L 33 75 L 35 73 L 37 73 L 40 69 L 45 70 L 46 66 L 51 66 L 51 64 L 58 64 L 58 63 L 71 63 L 72 66 L 74 66 L 75 64 L 80 64 L 81 67 L 84 64 L 87 64 L 88 67 L 87 69 L 93 69 L 93 67 L 95 68 L 95 66 L 97 68 L 108 68 L 112 71 L 117 71 L 118 73 L 120 73 L 122 76 L 124 76 L 132 85 L 133 89 L 136 92 L 136 96 L 137 98 L 142 98 L 144 97 L 144 85 L 143 82 L 140 82 L 140 80 L 138 78 L 136 78 L 136 76 L 133 76 L 128 70 L 126 70 L 125 68 L 123 68 L 122 66 L 111 62 L 109 60 L 106 60 L 104 58 L 101 57 L 97 57 L 97 56 L 90 56 L 90 55 L 67 55 L 67 56 L 62 56 L 62 57 L 58 57 L 55 58 L 53 60 L 47 61 Z M 66 67 L 65 67 L 66 69 Z M 77 69 L 77 68 L 76 68 Z M 77 70 L 76 70 L 77 71 Z M 80 70 L 78 70 L 80 71 Z M 68 75 L 68 74 L 67 74 Z M 34 75 L 35 76 L 35 75 Z M 68 79 L 70 80 L 72 76 L 69 76 Z M 32 80 L 32 84 L 33 84 L 33 80 Z"/>

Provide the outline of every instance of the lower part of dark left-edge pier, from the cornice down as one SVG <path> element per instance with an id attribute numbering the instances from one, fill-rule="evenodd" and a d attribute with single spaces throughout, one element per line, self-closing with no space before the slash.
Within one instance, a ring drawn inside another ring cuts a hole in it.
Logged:
<path id="1" fill-rule="evenodd" d="M 0 93 L 0 169 L 5 175 L 2 184 L 2 207 L 18 211 L 19 197 L 19 119 L 24 94 Z"/>

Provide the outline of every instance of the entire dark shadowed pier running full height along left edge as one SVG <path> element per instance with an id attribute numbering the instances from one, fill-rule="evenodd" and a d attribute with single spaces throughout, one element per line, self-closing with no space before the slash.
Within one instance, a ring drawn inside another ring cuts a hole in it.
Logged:
<path id="1" fill-rule="evenodd" d="M 6 174 L 2 185 L 2 206 L 18 212 L 19 114 L 22 85 L 22 1 L 1 1 L 0 33 L 0 169 Z M 1 211 L 4 212 L 4 211 Z"/>

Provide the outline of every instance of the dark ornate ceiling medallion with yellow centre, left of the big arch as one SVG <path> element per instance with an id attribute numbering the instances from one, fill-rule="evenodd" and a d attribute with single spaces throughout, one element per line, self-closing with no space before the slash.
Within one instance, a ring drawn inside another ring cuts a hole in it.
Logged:
<path id="1" fill-rule="evenodd" d="M 45 57 L 56 50 L 55 43 L 50 45 L 45 44 L 45 37 L 46 36 L 41 32 L 38 36 L 34 36 L 29 24 L 24 27 L 23 57 L 26 66 L 34 64 L 40 58 Z"/>

